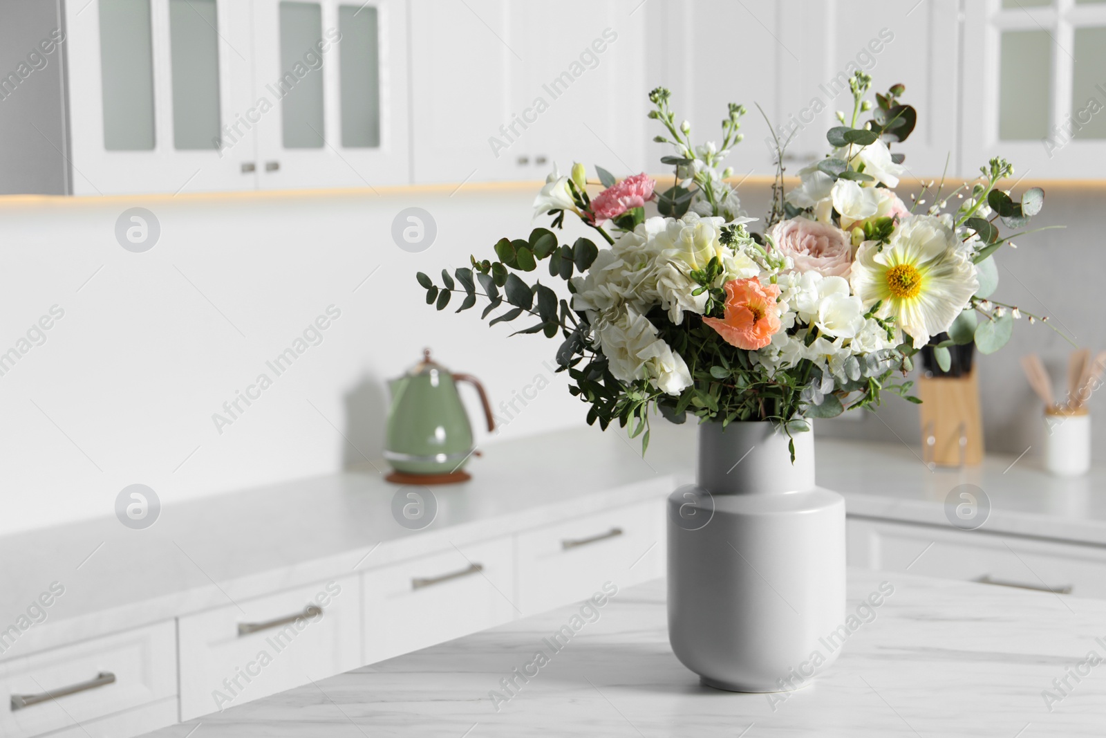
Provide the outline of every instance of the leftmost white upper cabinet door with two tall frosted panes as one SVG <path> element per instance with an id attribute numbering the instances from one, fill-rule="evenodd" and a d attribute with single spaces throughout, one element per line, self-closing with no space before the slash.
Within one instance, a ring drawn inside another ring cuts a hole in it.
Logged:
<path id="1" fill-rule="evenodd" d="M 65 3 L 73 194 L 251 189 L 249 3 Z"/>

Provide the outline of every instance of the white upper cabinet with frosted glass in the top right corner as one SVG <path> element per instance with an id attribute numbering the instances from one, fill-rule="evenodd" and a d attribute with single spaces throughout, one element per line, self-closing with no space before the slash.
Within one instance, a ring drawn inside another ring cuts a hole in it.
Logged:
<path id="1" fill-rule="evenodd" d="M 1015 177 L 1106 176 L 1106 0 L 964 12 L 963 174 L 1004 156 Z"/>

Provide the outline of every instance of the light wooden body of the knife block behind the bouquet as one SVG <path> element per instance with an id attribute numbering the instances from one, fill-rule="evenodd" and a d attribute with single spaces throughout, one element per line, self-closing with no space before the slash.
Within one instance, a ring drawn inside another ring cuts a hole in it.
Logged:
<path id="1" fill-rule="evenodd" d="M 975 372 L 921 376 L 921 451 L 926 464 L 975 466 L 983 461 L 983 423 Z"/>

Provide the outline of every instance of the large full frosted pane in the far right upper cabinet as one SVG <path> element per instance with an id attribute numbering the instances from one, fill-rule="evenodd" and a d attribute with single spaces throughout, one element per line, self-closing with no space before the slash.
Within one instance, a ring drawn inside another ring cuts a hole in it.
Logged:
<path id="1" fill-rule="evenodd" d="M 1052 39 L 1045 31 L 1006 31 L 999 62 L 999 138 L 1048 135 L 1052 101 Z"/>

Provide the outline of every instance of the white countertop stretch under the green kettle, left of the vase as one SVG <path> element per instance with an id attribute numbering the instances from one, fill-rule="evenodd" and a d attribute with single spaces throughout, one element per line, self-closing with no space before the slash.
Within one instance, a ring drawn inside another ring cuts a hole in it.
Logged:
<path id="1" fill-rule="evenodd" d="M 643 460 L 624 435 L 585 426 L 482 453 L 471 481 L 434 488 L 438 513 L 422 530 L 393 517 L 394 495 L 411 488 L 366 466 L 166 506 L 145 530 L 113 516 L 0 538 L 0 630 L 52 582 L 65 588 L 0 661 L 656 499 L 675 485 L 660 469 L 685 450 L 661 445 Z"/>

